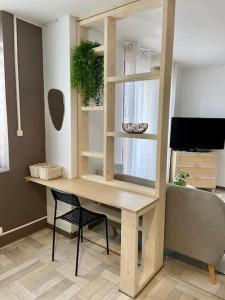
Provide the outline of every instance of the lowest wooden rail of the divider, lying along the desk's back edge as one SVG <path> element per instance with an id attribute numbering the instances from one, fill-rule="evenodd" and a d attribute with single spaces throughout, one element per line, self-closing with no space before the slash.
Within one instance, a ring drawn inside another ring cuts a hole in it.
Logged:
<path id="1" fill-rule="evenodd" d="M 125 181 L 120 181 L 120 180 L 116 180 L 116 179 L 106 181 L 103 176 L 94 175 L 94 174 L 83 175 L 83 176 L 81 176 L 81 178 L 89 180 L 89 181 L 93 181 L 93 182 L 106 184 L 111 187 L 119 188 L 122 190 L 127 190 L 130 192 L 147 195 L 147 196 L 155 198 L 155 189 L 147 187 L 147 186 L 134 184 L 134 183 L 130 183 L 130 182 L 125 182 Z"/>

